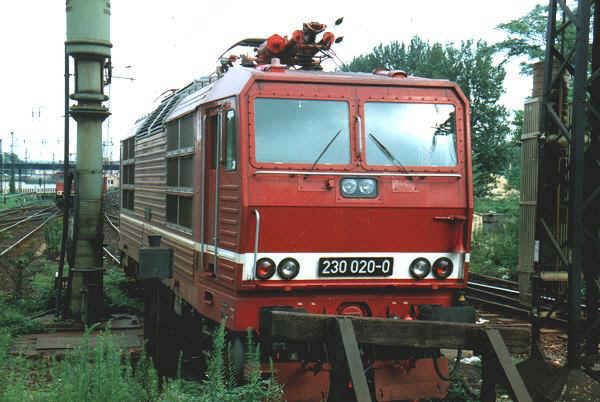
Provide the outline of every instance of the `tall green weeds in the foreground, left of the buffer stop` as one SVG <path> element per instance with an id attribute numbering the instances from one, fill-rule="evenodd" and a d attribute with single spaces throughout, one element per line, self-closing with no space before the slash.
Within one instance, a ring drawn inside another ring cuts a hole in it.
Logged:
<path id="1" fill-rule="evenodd" d="M 92 328 L 93 329 L 93 328 Z M 93 341 L 92 341 L 93 340 Z M 82 345 L 62 360 L 32 367 L 9 354 L 10 335 L 0 334 L 0 402 L 275 402 L 282 400 L 282 388 L 260 372 L 259 349 L 248 337 L 248 369 L 245 384 L 237 386 L 227 368 L 225 329 L 214 338 L 206 378 L 197 384 L 163 379 L 162 386 L 152 361 L 142 353 L 137 362 L 121 350 L 110 332 L 84 336 Z M 33 375 L 35 373 L 35 378 Z"/>

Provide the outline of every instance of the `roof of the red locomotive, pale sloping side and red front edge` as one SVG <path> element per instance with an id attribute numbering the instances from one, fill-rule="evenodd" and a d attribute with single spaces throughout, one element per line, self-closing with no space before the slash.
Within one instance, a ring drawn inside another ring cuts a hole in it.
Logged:
<path id="1" fill-rule="evenodd" d="M 414 76 L 392 78 L 379 74 L 340 71 L 285 70 L 269 72 L 249 67 L 234 67 L 218 79 L 217 77 L 202 77 L 165 98 L 150 114 L 135 123 L 133 134 L 146 136 L 160 132 L 164 129 L 165 123 L 192 112 L 201 104 L 239 95 L 251 80 L 385 86 L 418 85 L 458 90 L 456 84 L 445 79 Z M 460 93 L 460 90 L 458 91 Z"/>

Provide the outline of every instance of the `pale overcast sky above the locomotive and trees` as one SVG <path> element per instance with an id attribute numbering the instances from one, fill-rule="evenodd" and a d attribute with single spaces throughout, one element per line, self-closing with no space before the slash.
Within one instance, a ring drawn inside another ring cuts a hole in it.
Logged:
<path id="1" fill-rule="evenodd" d="M 414 35 L 442 42 L 499 41 L 503 39 L 495 29 L 499 23 L 524 15 L 538 3 L 545 1 L 112 0 L 113 74 L 135 80 L 115 79 L 111 85 L 112 116 L 104 125 L 104 141 L 112 141 L 113 147 L 106 147 L 105 156 L 112 151 L 118 158 L 119 139 L 150 111 L 162 92 L 214 71 L 217 56 L 239 39 L 289 35 L 304 21 L 333 26 L 343 16 L 344 23 L 334 32 L 343 35 L 344 42 L 335 50 L 349 62 L 379 43 L 407 41 Z M 4 151 L 14 131 L 19 156 L 62 159 L 65 29 L 64 0 L 4 4 L 0 14 Z M 510 109 L 522 108 L 531 91 L 530 78 L 518 71 L 517 62 L 508 65 L 502 101 Z"/>

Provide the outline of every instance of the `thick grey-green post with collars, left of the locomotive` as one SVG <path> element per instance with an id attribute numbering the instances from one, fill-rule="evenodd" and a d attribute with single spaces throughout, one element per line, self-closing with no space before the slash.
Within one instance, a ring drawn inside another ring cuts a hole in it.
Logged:
<path id="1" fill-rule="evenodd" d="M 103 312 L 102 299 L 102 121 L 104 71 L 110 63 L 110 0 L 67 0 L 67 54 L 75 65 L 77 121 L 73 248 L 69 311 L 86 323 Z M 110 76 L 110 74 L 109 74 Z"/>

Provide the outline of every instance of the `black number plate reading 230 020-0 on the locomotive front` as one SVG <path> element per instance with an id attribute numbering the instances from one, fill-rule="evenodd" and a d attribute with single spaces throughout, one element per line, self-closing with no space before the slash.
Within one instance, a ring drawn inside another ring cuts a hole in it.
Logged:
<path id="1" fill-rule="evenodd" d="M 394 273 L 392 257 L 319 258 L 319 276 L 391 276 Z"/>

